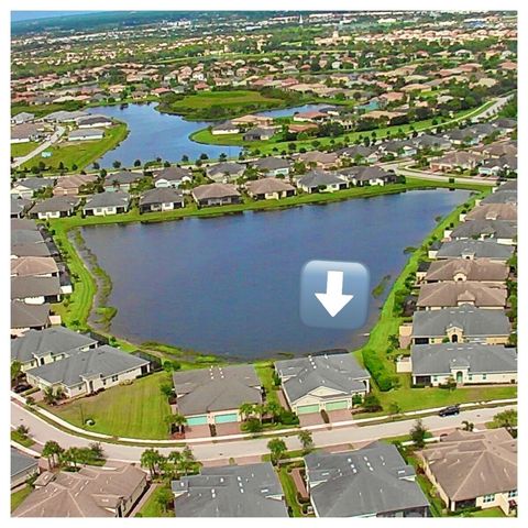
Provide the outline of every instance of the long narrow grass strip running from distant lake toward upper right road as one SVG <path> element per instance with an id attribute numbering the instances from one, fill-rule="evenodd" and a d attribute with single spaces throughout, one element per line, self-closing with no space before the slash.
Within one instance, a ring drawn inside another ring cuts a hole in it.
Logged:
<path id="1" fill-rule="evenodd" d="M 409 134 L 414 131 L 421 132 L 426 130 L 433 129 L 438 125 L 449 125 L 464 119 L 470 119 L 475 114 L 483 112 L 487 108 L 493 105 L 493 101 L 488 101 L 484 105 L 481 105 L 477 108 L 473 108 L 470 110 L 463 110 L 458 112 L 453 118 L 448 119 L 443 122 L 440 122 L 439 118 L 430 118 L 424 121 L 416 121 L 414 123 L 408 124 L 397 124 L 393 127 L 385 127 L 383 129 L 375 129 L 370 131 L 363 132 L 346 132 L 341 135 L 337 135 L 334 138 L 310 138 L 307 140 L 296 140 L 296 141 L 284 141 L 282 134 L 275 134 L 274 138 L 267 141 L 251 141 L 244 142 L 242 139 L 243 134 L 233 134 L 222 136 L 222 135 L 212 135 L 208 129 L 198 130 L 190 135 L 193 141 L 197 143 L 212 143 L 216 145 L 238 145 L 238 146 L 246 146 L 253 151 L 258 150 L 261 154 L 280 154 L 284 152 L 292 152 L 289 148 L 290 144 L 295 145 L 295 150 L 298 152 L 300 148 L 306 148 L 307 151 L 312 151 L 316 148 L 314 142 L 317 141 L 317 148 L 328 148 L 329 146 L 333 146 L 336 143 L 354 143 L 356 140 L 363 141 L 365 138 L 381 140 L 383 138 L 395 136 L 396 134 L 404 133 Z M 433 124 L 433 120 L 438 123 Z M 375 134 L 373 136 L 373 133 Z M 295 152 L 295 151 L 294 151 Z"/>

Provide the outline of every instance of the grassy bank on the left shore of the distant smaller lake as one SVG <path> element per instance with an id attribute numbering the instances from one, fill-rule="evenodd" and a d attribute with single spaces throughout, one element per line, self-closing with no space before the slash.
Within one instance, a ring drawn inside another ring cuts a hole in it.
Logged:
<path id="1" fill-rule="evenodd" d="M 28 160 L 21 169 L 31 169 L 34 165 L 38 165 L 40 162 L 45 163 L 46 170 L 56 172 L 59 169 L 61 163 L 66 170 L 73 170 L 74 165 L 80 170 L 86 166 L 99 160 L 105 153 L 116 148 L 128 134 L 127 124 L 119 123 L 108 128 L 105 131 L 105 138 L 97 141 L 75 141 L 63 142 L 51 146 L 46 152 L 51 152 L 51 157 L 32 157 Z M 44 175 L 46 173 L 44 170 Z"/>

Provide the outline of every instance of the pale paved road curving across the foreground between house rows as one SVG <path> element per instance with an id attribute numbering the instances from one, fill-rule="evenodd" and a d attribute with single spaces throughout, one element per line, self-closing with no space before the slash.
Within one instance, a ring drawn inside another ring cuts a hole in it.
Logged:
<path id="1" fill-rule="evenodd" d="M 506 408 L 516 408 L 516 406 L 505 406 L 503 408 L 482 408 L 475 410 L 462 411 L 459 416 L 440 418 L 429 416 L 422 418 L 425 426 L 431 431 L 441 431 L 454 427 L 460 427 L 463 420 L 474 424 L 490 421 L 499 410 Z M 361 443 L 381 438 L 397 437 L 407 435 L 415 420 L 393 421 L 372 426 L 345 426 L 312 431 L 314 442 L 317 447 L 340 446 L 343 443 Z M 30 428 L 30 435 L 36 441 L 33 447 L 40 450 L 46 440 L 55 440 L 63 448 L 72 446 L 88 446 L 94 440 L 76 437 L 67 432 L 55 429 L 53 426 L 28 411 L 18 404 L 11 403 L 11 425 L 18 427 L 24 425 Z M 219 443 L 208 442 L 193 446 L 195 457 L 200 461 L 218 460 L 240 457 L 257 457 L 268 452 L 268 438 L 257 438 L 249 440 L 233 440 Z M 300 443 L 296 436 L 285 437 L 289 450 L 300 449 Z M 138 462 L 145 448 L 136 446 L 121 446 L 116 443 L 101 442 L 102 448 L 110 461 Z M 157 448 L 161 453 L 168 454 L 176 448 Z"/>

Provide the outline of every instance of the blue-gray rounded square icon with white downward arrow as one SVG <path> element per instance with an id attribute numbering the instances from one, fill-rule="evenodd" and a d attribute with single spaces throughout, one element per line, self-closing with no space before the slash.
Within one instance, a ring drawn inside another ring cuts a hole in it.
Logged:
<path id="1" fill-rule="evenodd" d="M 358 262 L 310 261 L 300 275 L 300 319 L 308 327 L 356 329 L 366 322 L 369 270 Z"/>

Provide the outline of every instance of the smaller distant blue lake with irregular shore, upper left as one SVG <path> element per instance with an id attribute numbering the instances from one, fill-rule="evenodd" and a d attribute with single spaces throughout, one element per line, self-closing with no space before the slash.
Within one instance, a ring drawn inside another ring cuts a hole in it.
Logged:
<path id="1" fill-rule="evenodd" d="M 318 108 L 320 108 L 320 105 L 305 105 L 258 112 L 258 116 L 279 118 L 293 116 L 295 112 L 317 110 Z M 156 110 L 156 103 L 134 103 L 125 108 L 121 108 L 119 105 L 95 107 L 90 109 L 90 112 L 119 119 L 125 122 L 129 128 L 128 138 L 113 151 L 107 152 L 98 160 L 99 165 L 103 168 L 112 167 L 114 161 L 121 162 L 124 167 L 131 167 L 135 160 L 145 163 L 161 157 L 174 163 L 180 162 L 184 154 L 189 156 L 191 161 L 197 160 L 201 154 L 207 154 L 210 160 L 217 160 L 222 153 L 229 157 L 237 157 L 242 151 L 239 146 L 196 143 L 189 139 L 189 135 L 215 123 L 186 121 L 182 116 L 161 113 Z"/>

